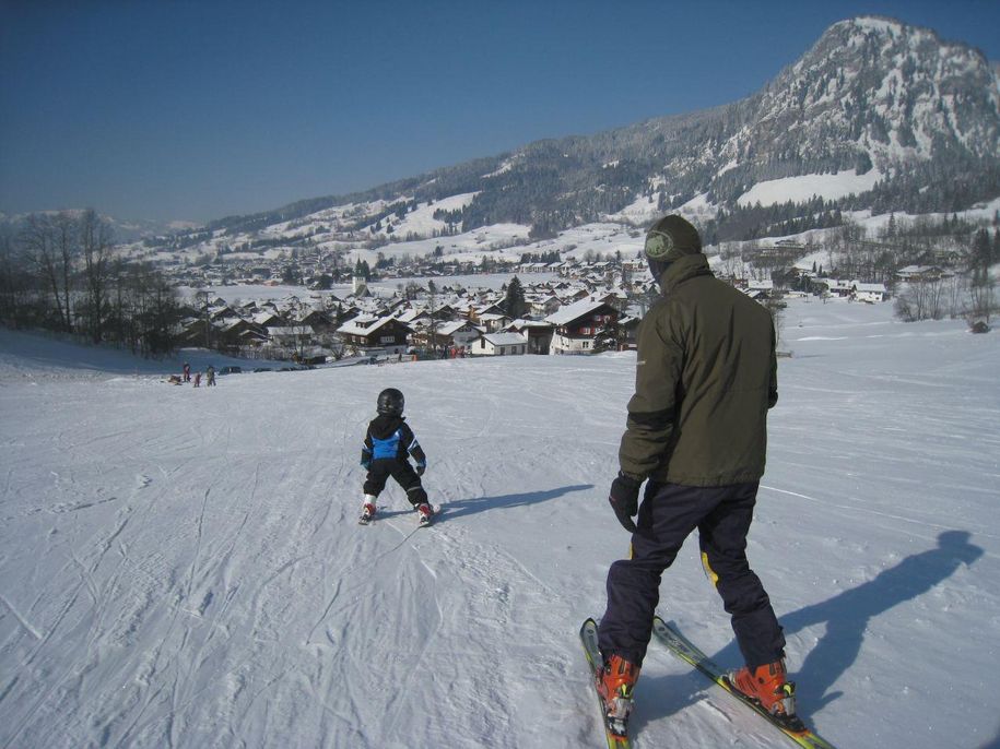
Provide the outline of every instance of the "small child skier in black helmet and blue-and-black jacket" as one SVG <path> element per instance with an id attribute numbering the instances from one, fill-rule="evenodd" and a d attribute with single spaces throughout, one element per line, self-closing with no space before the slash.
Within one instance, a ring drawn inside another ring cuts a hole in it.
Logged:
<path id="1" fill-rule="evenodd" d="M 405 489 L 407 499 L 420 513 L 421 525 L 431 522 L 434 511 L 420 482 L 427 468 L 427 456 L 405 423 L 403 405 L 403 394 L 396 388 L 387 388 L 378 394 L 378 416 L 368 425 L 361 449 L 361 464 L 368 471 L 361 523 L 367 523 L 375 516 L 375 500 L 386 488 L 389 476 Z M 410 465 L 410 455 L 416 461 L 416 471 Z"/>

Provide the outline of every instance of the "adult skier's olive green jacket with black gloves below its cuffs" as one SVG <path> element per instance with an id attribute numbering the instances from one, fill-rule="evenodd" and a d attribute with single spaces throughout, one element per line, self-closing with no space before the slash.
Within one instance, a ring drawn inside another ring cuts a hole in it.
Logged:
<path id="1" fill-rule="evenodd" d="M 622 471 L 687 486 L 758 480 L 778 400 L 770 314 L 701 252 L 672 262 L 660 287 L 638 331 Z"/>

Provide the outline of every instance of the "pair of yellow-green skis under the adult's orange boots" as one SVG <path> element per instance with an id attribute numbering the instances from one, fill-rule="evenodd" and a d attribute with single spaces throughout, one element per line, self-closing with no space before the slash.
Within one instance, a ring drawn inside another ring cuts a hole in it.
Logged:
<path id="1" fill-rule="evenodd" d="M 697 668 L 705 676 L 715 681 L 716 685 L 729 692 L 740 703 L 753 710 L 754 713 L 775 726 L 787 738 L 791 739 L 800 747 L 804 747 L 805 749 L 834 749 L 832 744 L 807 728 L 798 718 L 795 718 L 795 723 L 781 721 L 764 710 L 757 702 L 745 697 L 736 689 L 729 681 L 728 673 L 705 655 L 697 645 L 685 638 L 673 622 L 668 623 L 658 616 L 654 617 L 652 634 L 657 642 L 666 645 L 677 657 Z M 587 663 L 590 665 L 595 693 L 597 693 L 597 677 L 602 662 L 601 653 L 598 649 L 597 622 L 593 619 L 587 619 L 584 622 L 584 626 L 580 628 L 580 641 L 584 644 L 584 653 L 587 656 Z M 631 749 L 632 742 L 628 739 L 627 720 L 607 718 L 604 715 L 604 702 L 600 694 L 598 694 L 597 699 L 601 710 L 601 720 L 604 723 L 604 735 L 608 740 L 608 749 Z"/>

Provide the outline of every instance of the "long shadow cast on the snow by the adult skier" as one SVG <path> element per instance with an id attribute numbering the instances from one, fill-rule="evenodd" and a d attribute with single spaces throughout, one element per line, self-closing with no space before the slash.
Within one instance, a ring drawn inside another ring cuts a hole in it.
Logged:
<path id="1" fill-rule="evenodd" d="M 983 549 L 970 544 L 969 538 L 970 534 L 966 531 L 945 531 L 938 535 L 937 548 L 911 555 L 880 572 L 873 580 L 823 603 L 778 617 L 786 634 L 815 625 L 826 626 L 825 633 L 801 666 L 796 668 L 793 657 L 789 663 L 791 677 L 797 683 L 797 709 L 807 722 L 811 713 L 840 697 L 842 692 L 831 691 L 831 688 L 857 659 L 864 641 L 864 630 L 872 618 L 921 596 L 954 574 L 961 566 L 972 564 L 983 556 Z M 656 647 L 656 644 L 651 646 Z M 743 664 L 736 641 L 710 657 L 726 668 Z M 658 710 L 654 713 L 666 711 L 667 715 L 671 715 L 696 701 L 697 693 L 705 686 L 705 678 L 694 675 L 701 681 L 694 682 L 695 691 L 692 692 L 690 686 L 684 687 L 692 683 L 689 676 L 656 679 L 656 688 L 650 691 L 663 699 L 657 703 Z M 655 714 L 652 717 L 663 715 Z"/>

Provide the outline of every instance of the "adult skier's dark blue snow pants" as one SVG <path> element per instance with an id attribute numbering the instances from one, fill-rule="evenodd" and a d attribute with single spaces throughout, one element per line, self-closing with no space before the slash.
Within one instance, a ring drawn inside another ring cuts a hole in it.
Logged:
<path id="1" fill-rule="evenodd" d="M 761 580 L 746 561 L 757 483 L 694 487 L 650 482 L 639 507 L 632 556 L 608 571 L 608 610 L 600 625 L 604 657 L 642 665 L 660 599 L 660 579 L 697 528 L 703 562 L 732 617 L 750 667 L 785 656 L 785 635 Z"/>

